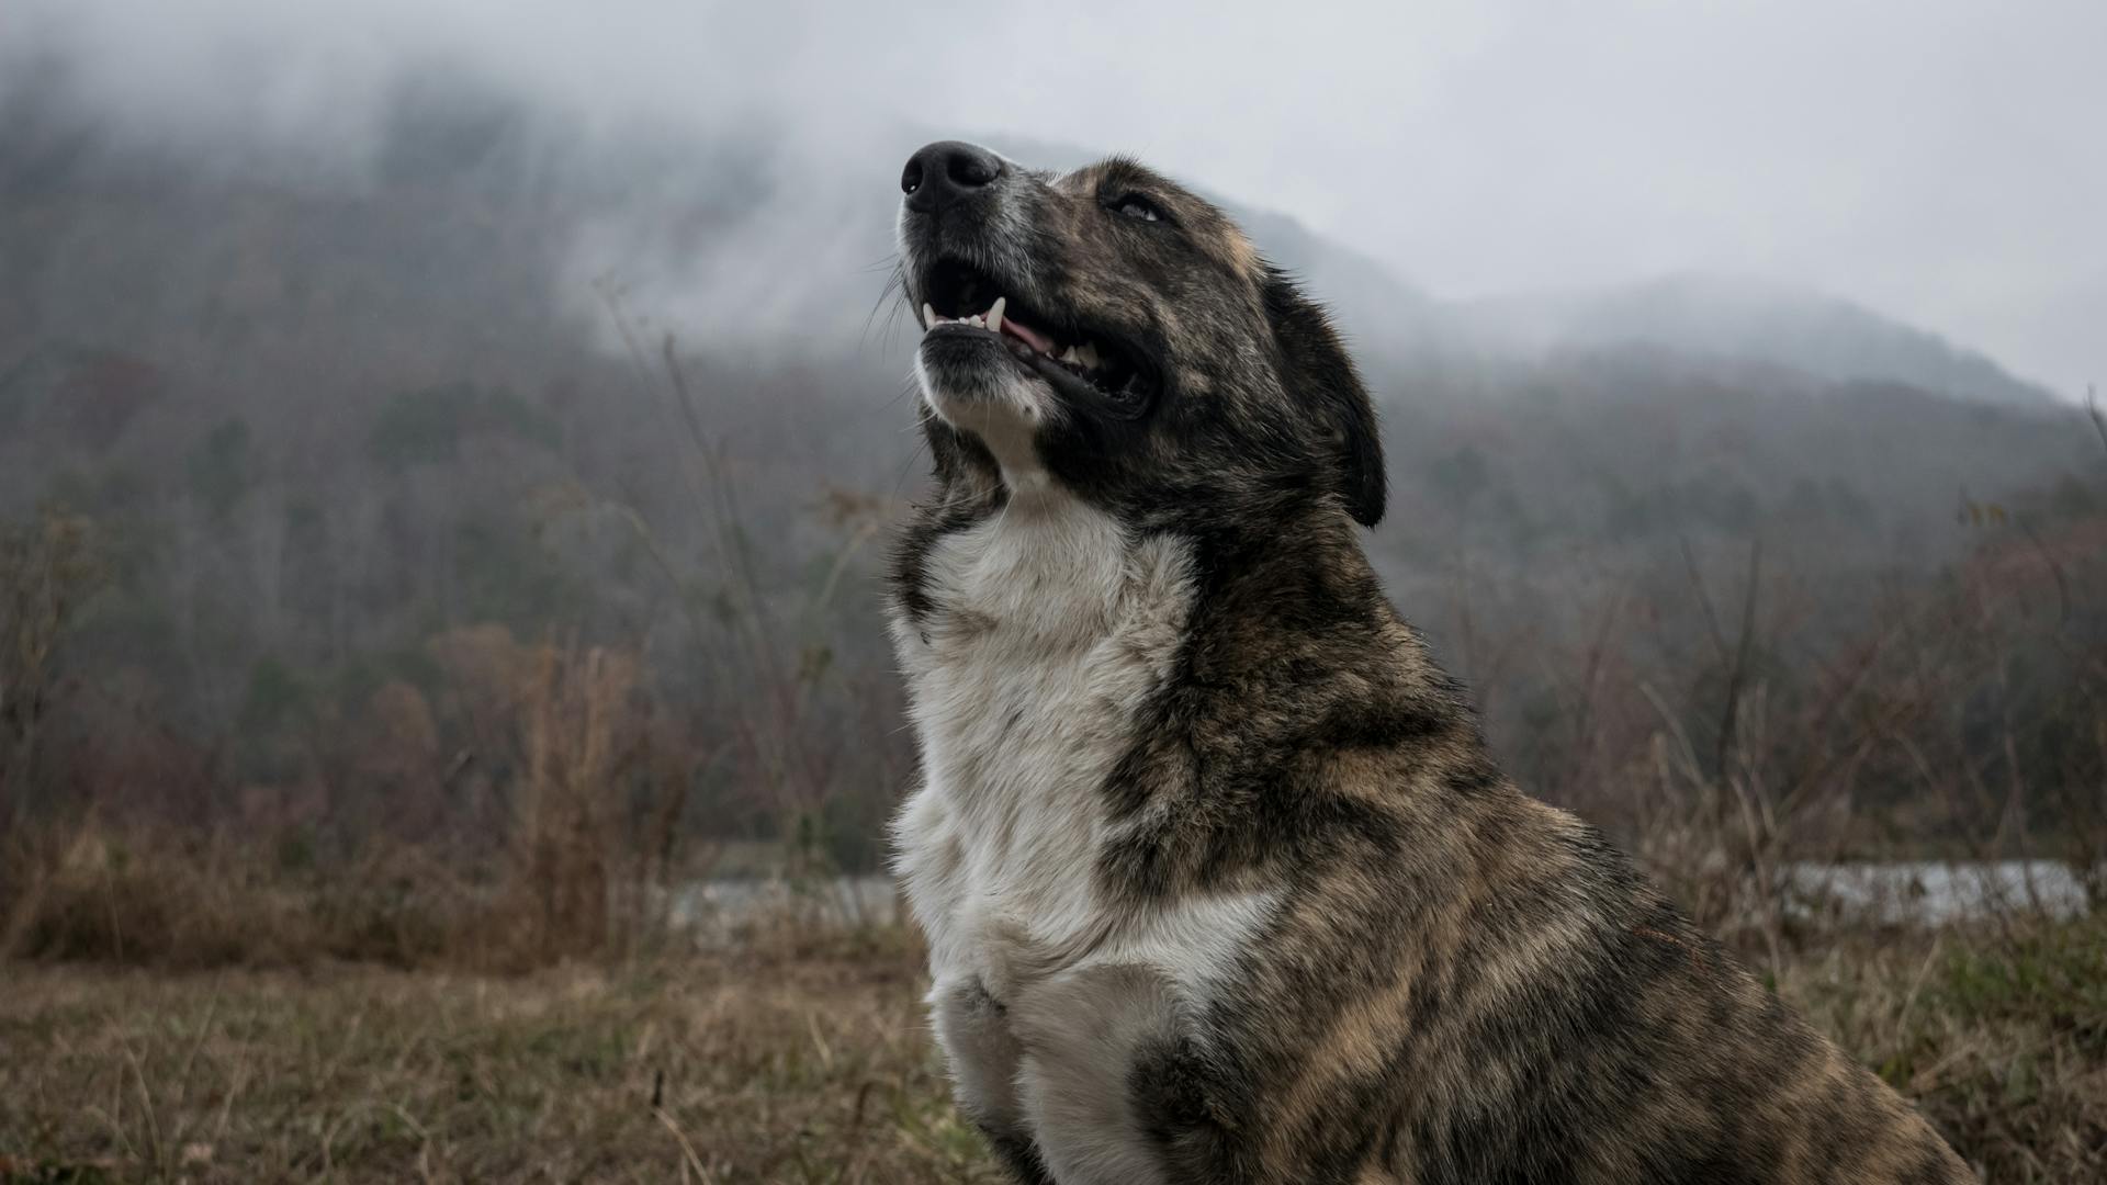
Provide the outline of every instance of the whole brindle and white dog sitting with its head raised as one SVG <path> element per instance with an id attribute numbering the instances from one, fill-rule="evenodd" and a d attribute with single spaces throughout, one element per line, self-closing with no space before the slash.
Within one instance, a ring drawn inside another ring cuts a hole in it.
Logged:
<path id="1" fill-rule="evenodd" d="M 1974 1181 L 1494 768 L 1363 555 L 1370 394 L 1220 209 L 959 141 L 902 190 L 895 873 L 1018 1181 Z"/>

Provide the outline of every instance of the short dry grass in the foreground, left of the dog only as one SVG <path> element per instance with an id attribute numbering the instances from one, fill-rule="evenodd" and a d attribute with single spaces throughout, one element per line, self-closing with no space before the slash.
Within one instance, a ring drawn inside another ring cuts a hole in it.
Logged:
<path id="1" fill-rule="evenodd" d="M 0 1162 L 29 1181 L 997 1181 L 946 1101 L 919 968 L 898 934 L 520 978 L 13 966 Z"/>

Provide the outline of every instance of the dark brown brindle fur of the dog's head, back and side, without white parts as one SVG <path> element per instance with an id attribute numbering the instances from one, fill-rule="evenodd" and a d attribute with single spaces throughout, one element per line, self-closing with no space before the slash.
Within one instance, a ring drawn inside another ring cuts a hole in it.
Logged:
<path id="1" fill-rule="evenodd" d="M 1129 192 L 1167 219 L 1121 219 Z M 1131 540 L 1190 555 L 1176 658 L 1096 791 L 1117 839 L 1091 883 L 1125 917 L 1277 894 L 1203 1002 L 1146 968 L 1062 983 L 1070 1012 L 1032 997 L 1028 968 L 936 1002 L 954 1042 L 988 1042 L 986 1065 L 1075 1063 L 1060 1115 L 1016 1082 L 967 1099 L 1020 1181 L 1054 1179 L 1056 1126 L 1117 1122 L 1138 1124 L 1163 1181 L 1974 1179 L 1595 829 L 1494 768 L 1361 550 L 1355 521 L 1384 500 L 1361 380 L 1218 209 L 1131 160 L 1005 164 L 976 202 L 904 217 L 902 247 L 914 308 L 931 261 L 957 255 L 1161 367 L 1146 417 L 1070 407 L 1035 441 Z M 936 489 L 893 601 L 900 630 L 927 637 L 959 626 L 933 548 L 1009 491 L 971 432 L 927 407 L 923 428 Z M 1094 1027 L 1032 1031 L 1077 1014 Z M 1104 1115 L 1077 1101 L 1089 1090 L 1110 1092 Z"/>

